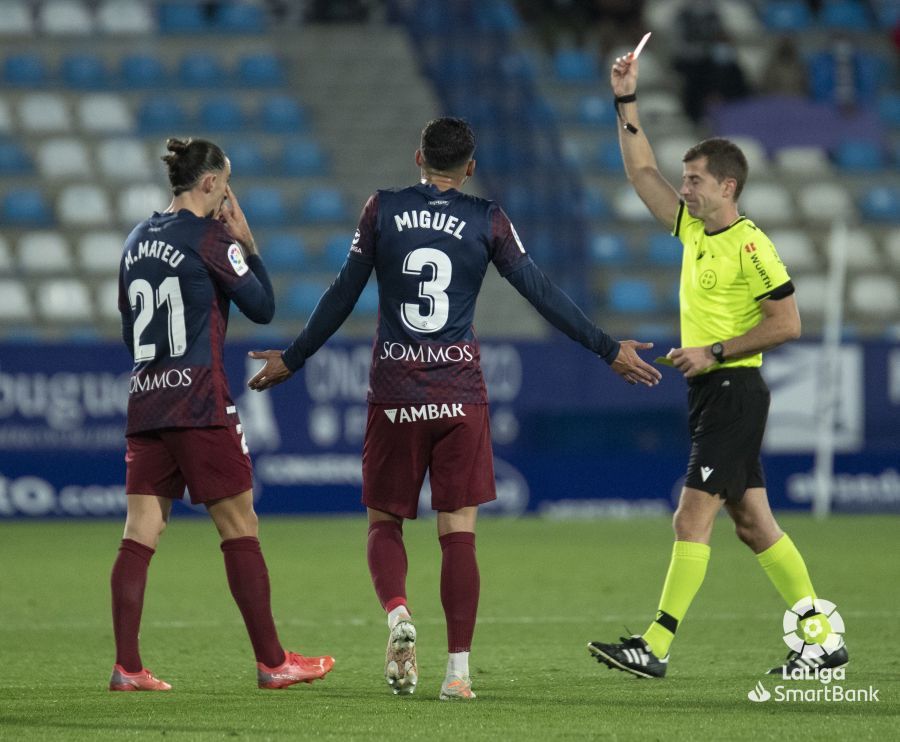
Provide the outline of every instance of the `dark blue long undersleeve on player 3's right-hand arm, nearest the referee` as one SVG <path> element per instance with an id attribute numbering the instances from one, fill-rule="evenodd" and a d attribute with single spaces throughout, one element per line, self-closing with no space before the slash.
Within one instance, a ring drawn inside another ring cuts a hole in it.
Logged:
<path id="1" fill-rule="evenodd" d="M 572 340 L 612 363 L 619 343 L 591 322 L 569 296 L 545 276 L 534 263 L 507 273 L 506 280 L 528 299 L 541 316 Z"/>

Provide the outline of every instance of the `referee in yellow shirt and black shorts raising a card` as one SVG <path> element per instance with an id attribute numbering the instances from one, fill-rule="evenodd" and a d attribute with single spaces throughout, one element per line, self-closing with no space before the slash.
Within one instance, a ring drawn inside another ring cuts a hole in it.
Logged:
<path id="1" fill-rule="evenodd" d="M 598 661 L 640 677 L 666 674 L 669 647 L 706 574 L 710 535 L 724 505 L 735 532 L 772 584 L 793 606 L 815 598 L 803 557 L 769 507 L 760 448 L 769 390 L 760 374 L 763 351 L 800 336 L 794 286 L 769 238 L 738 210 L 747 160 L 726 139 L 707 139 L 683 158 L 681 188 L 660 174 L 641 130 L 638 62 L 613 65 L 619 144 L 628 180 L 641 200 L 681 240 L 679 303 L 682 347 L 668 358 L 688 382 L 691 453 L 673 526 L 675 545 L 656 618 L 639 636 L 591 642 Z M 821 657 L 791 652 L 795 668 L 839 667 L 841 646 Z M 782 666 L 770 673 L 781 673 Z"/>

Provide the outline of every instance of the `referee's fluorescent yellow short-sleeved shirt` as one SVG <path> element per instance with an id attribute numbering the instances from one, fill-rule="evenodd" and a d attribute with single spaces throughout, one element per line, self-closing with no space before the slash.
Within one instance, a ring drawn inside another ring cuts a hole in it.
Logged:
<path id="1" fill-rule="evenodd" d="M 682 347 L 743 335 L 760 322 L 759 303 L 791 280 L 772 241 L 746 217 L 709 233 L 682 202 L 672 234 L 684 246 L 678 292 Z M 761 365 L 757 353 L 710 370 Z"/>

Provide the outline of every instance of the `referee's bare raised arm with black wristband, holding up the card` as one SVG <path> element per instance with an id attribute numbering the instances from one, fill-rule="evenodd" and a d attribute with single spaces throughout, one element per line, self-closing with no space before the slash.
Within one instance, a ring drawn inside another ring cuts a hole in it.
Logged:
<path id="1" fill-rule="evenodd" d="M 666 229 L 678 214 L 678 192 L 659 172 L 656 157 L 641 129 L 637 110 L 638 60 L 631 53 L 617 57 L 610 72 L 610 84 L 618 114 L 619 146 L 625 174 L 641 200 Z"/>

